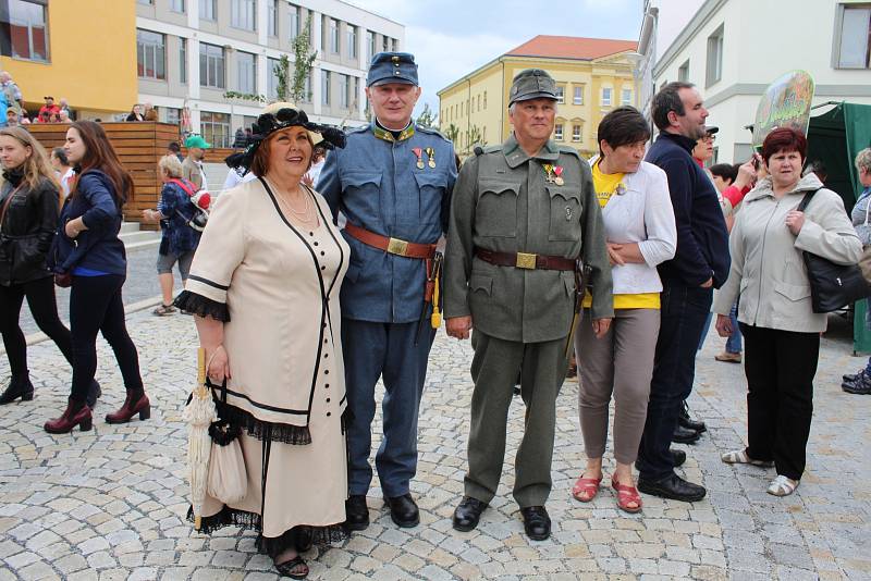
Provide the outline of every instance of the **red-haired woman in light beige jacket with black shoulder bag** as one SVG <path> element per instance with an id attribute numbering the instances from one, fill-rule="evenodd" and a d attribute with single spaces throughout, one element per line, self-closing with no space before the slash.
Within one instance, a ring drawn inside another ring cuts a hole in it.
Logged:
<path id="1" fill-rule="evenodd" d="M 716 330 L 732 334 L 728 311 L 738 302 L 745 337 L 747 433 L 745 449 L 723 455 L 728 463 L 777 470 L 770 494 L 792 494 L 805 471 L 813 413 L 813 376 L 826 316 L 811 308 L 802 252 L 855 264 L 862 245 L 841 197 L 813 174 L 801 177 L 807 140 L 775 129 L 762 145 L 770 174 L 744 199 L 732 231 L 732 270 L 714 301 Z M 805 212 L 796 207 L 815 191 Z"/>

